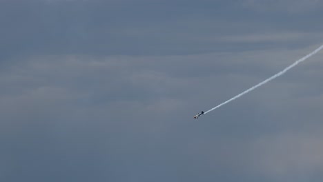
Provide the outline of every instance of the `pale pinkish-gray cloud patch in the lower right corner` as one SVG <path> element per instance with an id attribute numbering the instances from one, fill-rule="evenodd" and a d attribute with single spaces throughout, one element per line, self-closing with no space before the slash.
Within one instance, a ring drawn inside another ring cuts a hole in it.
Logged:
<path id="1" fill-rule="evenodd" d="M 311 130 L 306 134 L 284 132 L 262 136 L 252 144 L 253 170 L 284 179 L 302 172 L 309 175 L 309 172 L 322 171 L 322 143 L 322 130 Z"/>

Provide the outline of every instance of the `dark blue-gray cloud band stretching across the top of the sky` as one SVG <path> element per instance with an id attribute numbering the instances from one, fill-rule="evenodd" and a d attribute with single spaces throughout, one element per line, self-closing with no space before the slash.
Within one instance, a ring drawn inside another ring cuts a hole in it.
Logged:
<path id="1" fill-rule="evenodd" d="M 243 7 L 239 1 L 1 1 L 1 54 L 167 55 L 320 43 L 319 12 L 288 17 Z M 307 39 L 273 41 L 281 32 Z M 255 34 L 273 39 L 255 42 Z M 242 36 L 251 39 L 235 41 Z"/>

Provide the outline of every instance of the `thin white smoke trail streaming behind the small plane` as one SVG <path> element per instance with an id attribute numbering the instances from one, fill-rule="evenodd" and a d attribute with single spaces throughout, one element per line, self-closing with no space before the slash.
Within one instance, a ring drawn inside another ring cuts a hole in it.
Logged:
<path id="1" fill-rule="evenodd" d="M 283 74 L 285 74 L 285 72 L 287 72 L 288 70 L 290 70 L 291 68 L 293 68 L 295 65 L 297 65 L 298 63 L 305 61 L 306 59 L 308 59 L 309 57 L 313 56 L 314 54 L 316 54 L 317 52 L 319 52 L 320 50 L 322 50 L 323 45 L 321 45 L 319 48 L 317 48 L 316 50 L 314 50 L 313 52 L 311 52 L 310 54 L 307 54 L 305 57 L 302 57 L 301 59 L 298 59 L 297 61 L 295 61 L 295 63 L 289 65 L 288 67 L 286 67 L 284 70 L 282 70 L 281 72 L 278 72 L 277 74 L 273 75 L 272 77 L 269 77 L 268 79 L 258 83 L 257 85 L 253 86 L 252 88 L 249 88 L 248 90 L 242 92 L 241 94 L 237 94 L 235 97 L 228 99 L 228 101 L 225 101 L 224 103 L 220 103 L 219 105 L 215 106 L 214 108 L 212 108 L 211 110 L 208 110 L 206 112 L 204 112 L 204 114 L 211 112 L 219 107 L 221 107 L 222 105 L 229 103 L 239 97 L 242 97 L 244 94 L 251 92 L 252 90 L 255 90 L 256 88 L 259 88 L 261 85 L 266 84 L 268 81 L 272 81 L 273 79 L 282 76 Z"/>

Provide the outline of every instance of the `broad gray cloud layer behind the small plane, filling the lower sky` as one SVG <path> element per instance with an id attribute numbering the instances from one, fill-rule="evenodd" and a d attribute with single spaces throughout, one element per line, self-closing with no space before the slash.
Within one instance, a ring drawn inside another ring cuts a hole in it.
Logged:
<path id="1" fill-rule="evenodd" d="M 321 140 L 307 135 L 322 128 L 321 54 L 190 122 L 193 112 L 262 81 L 305 52 L 30 57 L 1 73 L 1 138 L 10 141 L 1 154 L 7 161 L 2 178 L 280 181 L 303 169 L 308 179 L 320 176 L 320 152 L 299 157 L 311 155 Z"/>

